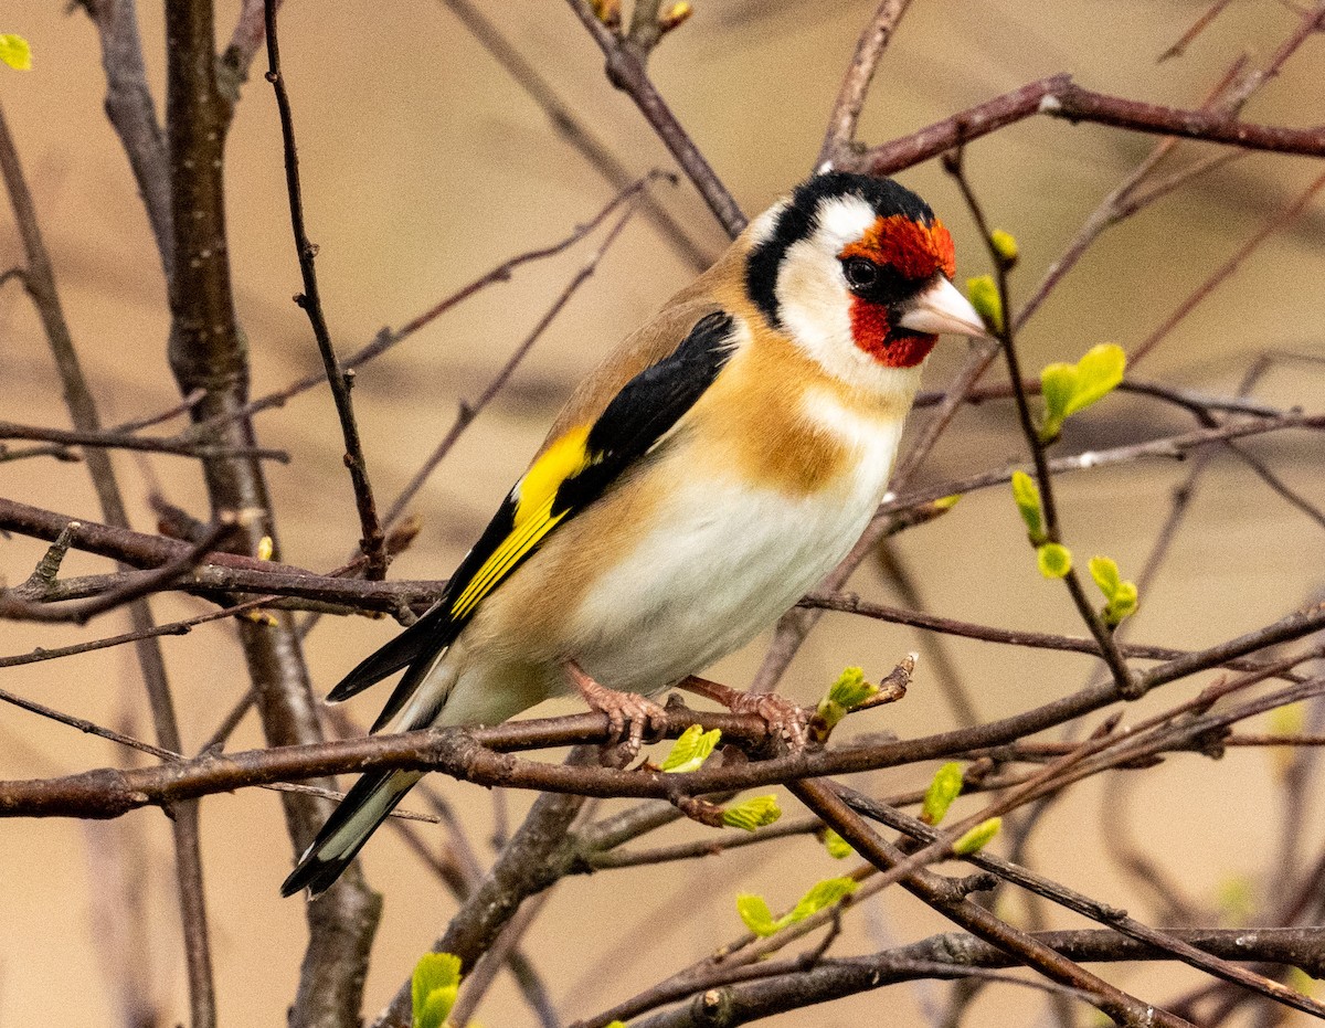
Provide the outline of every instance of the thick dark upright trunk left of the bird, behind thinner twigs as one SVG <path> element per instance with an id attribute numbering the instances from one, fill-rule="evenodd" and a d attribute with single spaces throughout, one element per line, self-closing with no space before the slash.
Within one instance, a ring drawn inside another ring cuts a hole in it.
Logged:
<path id="1" fill-rule="evenodd" d="M 233 415 L 248 401 L 248 351 L 235 318 L 225 237 L 225 135 L 233 103 L 217 82 L 211 0 L 167 0 L 166 37 L 175 250 L 168 351 L 180 393 L 205 391 L 191 411 L 197 424 Z M 253 445 L 252 427 L 242 416 L 216 433 L 233 445 Z M 203 462 L 203 473 L 213 517 L 227 509 L 272 510 L 256 461 L 209 458 Z M 270 538 L 280 552 L 270 517 L 246 526 L 236 548 L 256 552 L 262 538 Z M 238 635 L 268 742 L 315 745 L 322 730 L 289 616 L 273 617 L 272 623 L 240 620 Z M 330 805 L 292 794 L 282 796 L 282 805 L 292 847 L 299 853 L 311 843 Z M 309 946 L 292 1007 L 292 1028 L 348 1028 L 358 1023 L 380 909 L 380 897 L 368 889 L 358 866 L 350 868 L 321 902 L 306 907 Z"/>

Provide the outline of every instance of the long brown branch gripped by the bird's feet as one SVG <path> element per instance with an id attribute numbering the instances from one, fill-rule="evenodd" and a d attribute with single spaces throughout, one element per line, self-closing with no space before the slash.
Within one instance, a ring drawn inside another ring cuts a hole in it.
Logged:
<path id="1" fill-rule="evenodd" d="M 1230 656 L 1300 639 L 1325 627 L 1325 604 L 1293 615 L 1273 625 L 1212 646 L 1190 658 L 1159 665 L 1142 676 L 1147 689 L 1158 688 L 1194 670 L 1218 665 Z M 1239 652 L 1240 650 L 1240 652 Z M 1295 657 L 1288 661 L 1310 658 Z M 1261 668 L 1256 680 L 1273 674 Z M 1289 686 L 1289 692 L 1255 701 L 1207 719 L 1183 722 L 1165 746 L 1187 746 L 1194 738 L 1251 717 L 1284 697 L 1301 698 L 1321 690 L 1321 680 Z M 146 805 L 246 788 L 270 782 L 299 780 L 344 771 L 378 768 L 440 770 L 452 778 L 481 786 L 529 788 L 576 796 L 665 799 L 702 796 L 825 775 L 876 771 L 884 767 L 970 752 L 1023 738 L 1100 710 L 1117 701 L 1112 685 L 1088 686 L 1077 693 L 1000 721 L 970 729 L 938 733 L 902 742 L 851 745 L 833 750 L 802 751 L 767 760 L 723 767 L 705 767 L 689 774 L 652 770 L 620 771 L 610 767 L 545 764 L 517 759 L 509 751 L 602 743 L 608 739 L 608 721 L 602 714 L 522 721 L 489 729 L 428 729 L 401 735 L 372 735 L 339 742 L 277 746 L 227 755 L 208 754 L 171 768 L 126 771 L 103 768 L 60 779 L 0 783 L 0 816 L 7 817 L 118 817 Z M 1199 706 L 1198 701 L 1192 701 Z M 1204 702 L 1204 701 L 1200 701 Z M 731 742 L 758 747 L 767 726 L 754 715 L 709 714 L 684 706 L 668 711 L 669 737 L 690 725 L 718 727 Z M 1114 763 L 1137 759 L 1138 752 L 1114 755 Z"/>

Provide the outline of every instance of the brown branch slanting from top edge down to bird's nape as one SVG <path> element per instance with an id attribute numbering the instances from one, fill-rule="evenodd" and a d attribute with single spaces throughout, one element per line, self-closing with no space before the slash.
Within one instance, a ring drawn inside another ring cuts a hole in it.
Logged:
<path id="1" fill-rule="evenodd" d="M 567 0 L 567 3 L 607 58 L 608 81 L 635 101 L 645 121 L 657 132 L 659 139 L 676 158 L 685 176 L 700 191 L 700 196 L 704 197 L 713 216 L 718 219 L 718 224 L 726 229 L 729 236 L 739 234 L 741 229 L 746 227 L 746 216 L 741 213 L 731 193 L 727 192 L 694 140 L 672 114 L 653 82 L 649 81 L 639 58 L 616 33 L 598 20 L 588 0 Z"/>

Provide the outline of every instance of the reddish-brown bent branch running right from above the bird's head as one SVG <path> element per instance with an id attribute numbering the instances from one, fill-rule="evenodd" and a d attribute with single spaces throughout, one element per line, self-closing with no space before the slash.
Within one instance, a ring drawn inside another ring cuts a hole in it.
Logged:
<path id="1" fill-rule="evenodd" d="M 1203 139 L 1242 150 L 1325 156 L 1325 128 L 1279 128 L 1234 121 L 1222 114 L 1108 97 L 1075 85 L 1068 74 L 1057 74 L 867 150 L 841 167 L 844 171 L 892 175 L 1036 114 L 1072 123 L 1092 122 L 1136 132 Z"/>

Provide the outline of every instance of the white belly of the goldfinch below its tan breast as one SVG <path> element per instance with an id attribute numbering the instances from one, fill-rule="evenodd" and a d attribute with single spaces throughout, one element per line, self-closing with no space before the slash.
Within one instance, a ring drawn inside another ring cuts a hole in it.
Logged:
<path id="1" fill-rule="evenodd" d="M 742 646 L 851 550 L 888 485 L 901 423 L 853 433 L 856 465 L 810 497 L 714 478 L 668 501 L 659 527 L 571 615 L 584 670 L 652 693 Z"/>

